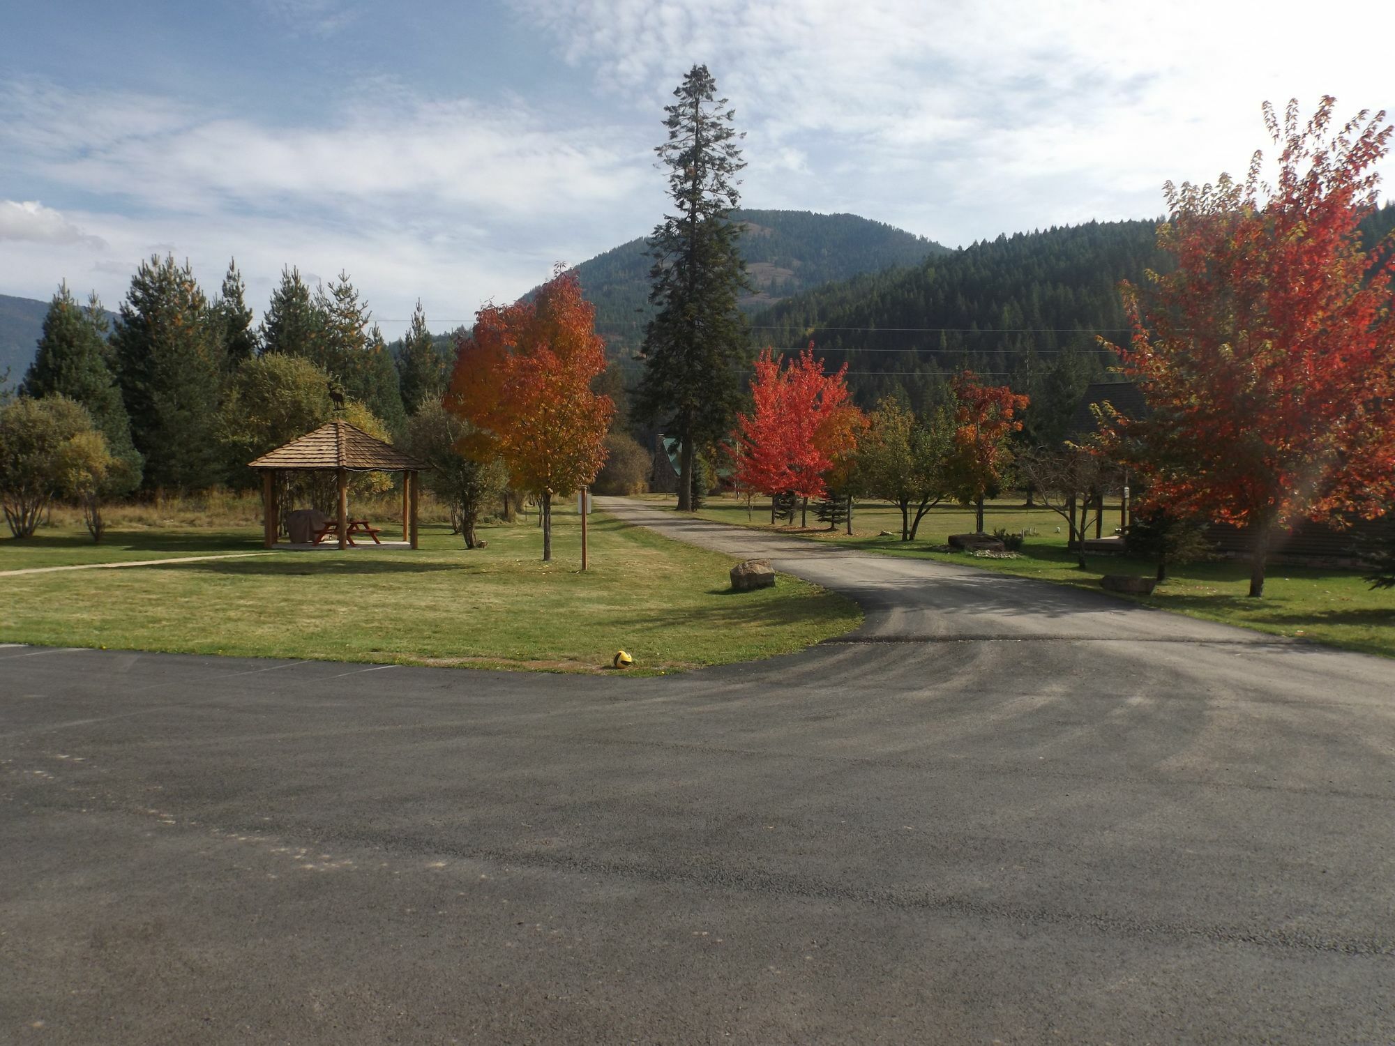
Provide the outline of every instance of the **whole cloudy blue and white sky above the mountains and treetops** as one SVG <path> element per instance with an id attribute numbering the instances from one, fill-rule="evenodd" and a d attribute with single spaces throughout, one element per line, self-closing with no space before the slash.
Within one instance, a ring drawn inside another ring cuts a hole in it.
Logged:
<path id="1" fill-rule="evenodd" d="M 706 63 L 742 202 L 951 245 L 1162 211 L 1260 103 L 1395 110 L 1370 0 L 165 0 L 0 7 L 0 293 L 114 307 L 135 262 L 347 271 L 392 338 L 646 234 L 661 106 Z M 1385 177 L 1395 177 L 1391 165 Z"/>

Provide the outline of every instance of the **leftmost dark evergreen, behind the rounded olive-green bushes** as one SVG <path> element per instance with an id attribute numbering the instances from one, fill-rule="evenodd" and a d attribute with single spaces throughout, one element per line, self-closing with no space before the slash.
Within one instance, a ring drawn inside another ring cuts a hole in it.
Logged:
<path id="1" fill-rule="evenodd" d="M 35 399 L 67 396 L 85 407 L 120 466 L 113 470 L 107 492 L 124 494 L 140 484 L 142 459 L 131 442 L 131 420 L 112 372 L 106 333 L 106 311 L 96 294 L 82 307 L 68 285 L 60 285 L 43 317 L 43 335 L 20 392 Z"/>

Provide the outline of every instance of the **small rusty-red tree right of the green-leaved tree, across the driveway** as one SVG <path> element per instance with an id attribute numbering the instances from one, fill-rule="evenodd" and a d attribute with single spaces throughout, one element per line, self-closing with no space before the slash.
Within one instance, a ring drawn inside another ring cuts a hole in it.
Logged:
<path id="1" fill-rule="evenodd" d="M 954 439 L 950 448 L 949 485 L 961 505 L 975 509 L 976 530 L 983 533 L 983 499 L 996 494 L 1011 463 L 1009 437 L 1020 432 L 1016 413 L 1031 403 L 1007 385 L 983 385 L 974 371 L 954 379 Z"/>

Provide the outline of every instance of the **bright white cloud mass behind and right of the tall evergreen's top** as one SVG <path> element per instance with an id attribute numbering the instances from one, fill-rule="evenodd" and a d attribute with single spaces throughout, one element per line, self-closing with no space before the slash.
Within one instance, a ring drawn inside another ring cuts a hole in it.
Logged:
<path id="1" fill-rule="evenodd" d="M 1384 64 L 1350 57 L 1362 0 L 1302 28 L 1211 0 L 512 3 L 636 112 L 706 63 L 749 131 L 752 206 L 847 208 L 947 243 L 1155 215 L 1165 180 L 1244 169 L 1264 99 L 1395 107 Z"/>

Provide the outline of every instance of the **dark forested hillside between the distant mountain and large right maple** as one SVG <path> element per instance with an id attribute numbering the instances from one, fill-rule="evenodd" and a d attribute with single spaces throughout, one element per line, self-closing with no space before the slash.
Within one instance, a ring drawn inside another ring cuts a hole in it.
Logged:
<path id="1" fill-rule="evenodd" d="M 1117 285 L 1162 265 L 1155 222 L 1091 222 L 1000 236 L 912 269 L 817 287 L 753 318 L 760 344 L 848 363 L 857 399 L 904 388 L 933 403 L 965 367 L 1032 395 L 1035 423 L 1055 437 L 1080 392 L 1109 361 L 1096 336 L 1122 335 Z"/>

